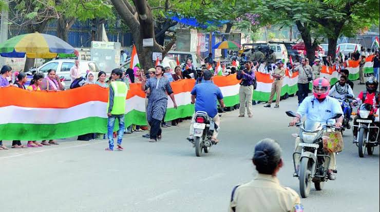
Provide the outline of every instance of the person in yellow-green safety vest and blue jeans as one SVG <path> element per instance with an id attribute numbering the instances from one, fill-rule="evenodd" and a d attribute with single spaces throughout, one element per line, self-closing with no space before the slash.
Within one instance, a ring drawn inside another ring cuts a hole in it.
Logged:
<path id="1" fill-rule="evenodd" d="M 106 151 L 113 151 L 113 126 L 115 125 L 115 120 L 119 120 L 119 131 L 118 131 L 118 145 L 117 150 L 122 151 L 123 147 L 121 142 L 124 135 L 124 114 L 125 114 L 125 99 L 127 97 L 128 87 L 121 80 L 123 76 L 123 71 L 120 69 L 113 69 L 111 72 L 112 81 L 109 85 L 109 97 L 107 105 L 107 116 L 108 116 L 108 143 L 109 147 Z"/>

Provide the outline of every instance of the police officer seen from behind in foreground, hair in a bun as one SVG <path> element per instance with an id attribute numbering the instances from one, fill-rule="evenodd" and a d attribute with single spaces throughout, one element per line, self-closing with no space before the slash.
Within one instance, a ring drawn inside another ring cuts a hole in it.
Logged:
<path id="1" fill-rule="evenodd" d="M 229 211 L 295 211 L 301 201 L 298 194 L 281 186 L 276 177 L 283 165 L 280 145 L 269 138 L 261 140 L 252 161 L 259 174 L 251 182 L 234 187 Z"/>

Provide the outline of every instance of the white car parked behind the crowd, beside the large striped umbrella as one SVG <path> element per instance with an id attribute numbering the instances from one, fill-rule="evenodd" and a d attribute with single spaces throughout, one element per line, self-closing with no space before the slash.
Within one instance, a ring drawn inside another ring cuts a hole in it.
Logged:
<path id="1" fill-rule="evenodd" d="M 37 72 L 42 72 L 47 75 L 48 70 L 54 69 L 55 73 L 60 77 L 65 77 L 65 81 L 70 81 L 70 69 L 75 66 L 74 59 L 55 59 L 45 62 L 42 66 L 37 68 Z M 79 61 L 79 69 L 81 70 L 82 76 L 86 76 L 87 70 L 94 72 L 96 79 L 98 78 L 99 67 L 96 62 L 88 60 Z"/>

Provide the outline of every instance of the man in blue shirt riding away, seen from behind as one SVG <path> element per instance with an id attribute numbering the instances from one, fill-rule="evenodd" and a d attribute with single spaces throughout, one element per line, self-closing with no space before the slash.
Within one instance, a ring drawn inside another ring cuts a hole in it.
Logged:
<path id="1" fill-rule="evenodd" d="M 192 104 L 195 102 L 195 112 L 204 111 L 210 116 L 213 121 L 220 126 L 220 119 L 218 116 L 217 101 L 220 103 L 220 107 L 224 108 L 223 94 L 220 89 L 215 86 L 212 82 L 213 74 L 209 71 L 203 73 L 203 81 L 200 84 L 196 84 L 193 88 L 192 94 Z M 197 99 L 197 101 L 195 101 Z M 195 113 L 193 115 L 192 122 L 190 124 L 190 136 L 188 139 L 193 138 L 194 127 L 193 123 L 195 122 Z M 214 131 L 211 141 L 215 143 L 219 142 L 217 139 L 218 132 Z"/>

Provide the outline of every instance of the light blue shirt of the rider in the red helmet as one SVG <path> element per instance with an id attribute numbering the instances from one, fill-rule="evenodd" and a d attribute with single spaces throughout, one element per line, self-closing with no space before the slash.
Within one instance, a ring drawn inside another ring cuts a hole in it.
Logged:
<path id="1" fill-rule="evenodd" d="M 314 96 L 308 96 L 303 99 L 297 111 L 301 118 L 306 116 L 308 120 L 318 121 L 321 124 L 326 124 L 326 120 L 336 113 L 343 114 L 343 111 L 339 101 L 330 96 L 327 96 L 322 102 L 319 102 Z M 328 123 L 334 124 L 335 119 L 329 119 Z"/>

